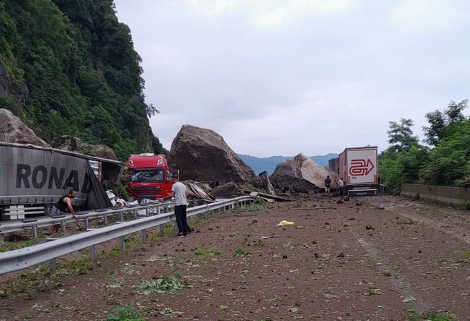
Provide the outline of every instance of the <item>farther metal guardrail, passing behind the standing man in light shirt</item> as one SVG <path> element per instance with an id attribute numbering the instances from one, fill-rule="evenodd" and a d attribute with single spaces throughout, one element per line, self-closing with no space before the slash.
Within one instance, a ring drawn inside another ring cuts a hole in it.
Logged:
<path id="1" fill-rule="evenodd" d="M 139 217 L 138 211 L 145 211 L 144 216 L 149 216 L 149 210 L 151 208 L 156 208 L 157 214 L 160 214 L 162 208 L 165 208 L 168 211 L 168 206 L 170 204 L 171 202 L 149 202 L 139 206 L 124 206 L 120 208 L 104 208 L 102 210 L 83 211 L 77 212 L 76 219 L 72 218 L 72 215 L 66 215 L 65 217 L 38 217 L 37 219 L 18 220 L 13 223 L 10 223 L 11 221 L 5 221 L 3 224 L 0 224 L 0 233 L 11 233 L 30 228 L 32 231 L 32 238 L 37 239 L 37 228 L 39 227 L 60 224 L 62 231 L 65 231 L 67 223 L 83 221 L 84 228 L 86 230 L 89 227 L 89 220 L 96 217 L 103 217 L 103 222 L 107 225 L 108 217 L 110 216 L 120 215 L 120 220 L 124 221 L 124 213 L 133 213 L 134 218 L 137 219 Z"/>

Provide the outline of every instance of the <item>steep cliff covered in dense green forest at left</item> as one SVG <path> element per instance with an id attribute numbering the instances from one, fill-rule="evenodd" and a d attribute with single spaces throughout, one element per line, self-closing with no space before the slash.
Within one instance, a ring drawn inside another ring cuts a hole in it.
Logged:
<path id="1" fill-rule="evenodd" d="M 74 135 L 129 153 L 164 152 L 149 126 L 140 57 L 113 0 L 0 0 L 0 64 L 26 104 L 0 97 L 50 141 Z"/>

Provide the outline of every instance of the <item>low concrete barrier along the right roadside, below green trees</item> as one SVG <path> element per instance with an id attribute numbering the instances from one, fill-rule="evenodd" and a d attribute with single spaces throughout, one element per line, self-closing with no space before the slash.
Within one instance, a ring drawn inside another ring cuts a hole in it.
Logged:
<path id="1" fill-rule="evenodd" d="M 402 184 L 402 195 L 412 196 L 415 194 L 420 195 L 420 198 L 449 204 L 470 203 L 470 188 Z"/>

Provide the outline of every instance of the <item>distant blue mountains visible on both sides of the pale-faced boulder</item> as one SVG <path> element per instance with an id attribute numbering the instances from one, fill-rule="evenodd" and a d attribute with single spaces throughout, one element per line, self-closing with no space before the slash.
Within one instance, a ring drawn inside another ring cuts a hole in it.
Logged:
<path id="1" fill-rule="evenodd" d="M 243 162 L 253 168 L 254 173 L 258 175 L 259 173 L 266 171 L 268 175 L 271 175 L 276 169 L 276 165 L 282 162 L 285 159 L 292 159 L 294 156 L 271 156 L 271 157 L 255 157 L 250 155 L 238 154 L 238 156 L 243 159 Z M 338 157 L 338 154 L 329 153 L 326 155 L 310 156 L 314 162 L 321 166 L 328 166 L 328 160 Z"/>

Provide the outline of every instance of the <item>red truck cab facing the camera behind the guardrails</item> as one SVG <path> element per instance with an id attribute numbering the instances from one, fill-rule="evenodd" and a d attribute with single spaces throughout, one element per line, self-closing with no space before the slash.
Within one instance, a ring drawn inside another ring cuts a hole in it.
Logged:
<path id="1" fill-rule="evenodd" d="M 130 155 L 127 164 L 131 182 L 127 191 L 135 200 L 159 200 L 171 192 L 171 174 L 165 155 L 138 154 Z"/>

